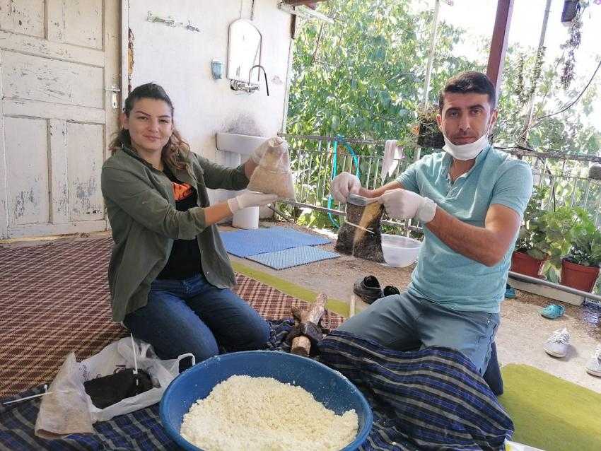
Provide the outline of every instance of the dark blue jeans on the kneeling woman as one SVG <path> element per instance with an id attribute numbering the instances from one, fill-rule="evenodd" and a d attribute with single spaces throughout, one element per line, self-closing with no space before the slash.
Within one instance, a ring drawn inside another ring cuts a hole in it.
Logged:
<path id="1" fill-rule="evenodd" d="M 153 281 L 148 304 L 129 313 L 124 324 L 153 346 L 159 358 L 192 353 L 196 361 L 227 351 L 262 348 L 269 324 L 240 296 L 216 288 L 203 274 Z"/>

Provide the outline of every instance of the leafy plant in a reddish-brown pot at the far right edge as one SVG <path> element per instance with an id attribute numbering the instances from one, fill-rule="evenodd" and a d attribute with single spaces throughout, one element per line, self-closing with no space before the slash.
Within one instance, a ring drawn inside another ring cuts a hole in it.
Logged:
<path id="1" fill-rule="evenodd" d="M 571 230 L 571 249 L 561 259 L 561 283 L 591 292 L 599 276 L 601 264 L 601 232 L 583 209 L 578 209 L 578 222 Z"/>

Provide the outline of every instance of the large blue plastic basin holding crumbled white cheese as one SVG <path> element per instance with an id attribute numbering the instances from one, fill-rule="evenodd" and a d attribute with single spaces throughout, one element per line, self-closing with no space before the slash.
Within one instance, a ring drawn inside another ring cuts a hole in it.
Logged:
<path id="1" fill-rule="evenodd" d="M 184 414 L 197 399 L 209 396 L 219 382 L 232 375 L 273 377 L 298 385 L 336 414 L 355 409 L 359 428 L 355 440 L 343 448 L 356 450 L 367 438 L 373 423 L 371 408 L 363 394 L 346 377 L 310 358 L 279 351 L 244 351 L 207 359 L 187 369 L 170 383 L 161 399 L 161 422 L 178 445 L 199 450 L 180 435 Z"/>

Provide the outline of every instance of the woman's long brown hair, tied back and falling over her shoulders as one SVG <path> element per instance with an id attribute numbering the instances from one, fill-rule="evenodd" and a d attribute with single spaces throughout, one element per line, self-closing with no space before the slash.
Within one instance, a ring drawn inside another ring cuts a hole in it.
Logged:
<path id="1" fill-rule="evenodd" d="M 132 112 L 134 103 L 140 99 L 163 100 L 163 102 L 169 105 L 171 118 L 173 120 L 173 102 L 171 102 L 171 99 L 161 86 L 158 86 L 155 83 L 146 83 L 132 90 L 127 96 L 127 99 L 125 99 L 125 107 L 123 109 L 123 112 L 127 117 L 129 117 L 129 113 Z M 129 136 L 129 130 L 123 128 L 108 146 L 111 155 L 122 148 L 122 146 L 130 148 L 132 151 L 136 150 L 132 147 L 132 137 Z M 189 144 L 182 138 L 180 132 L 173 127 L 173 133 L 171 134 L 169 141 L 167 141 L 167 144 L 165 144 L 165 147 L 163 147 L 163 151 L 161 151 L 161 160 L 163 160 L 163 163 L 174 168 L 185 169 L 187 162 L 189 161 L 189 153 Z"/>

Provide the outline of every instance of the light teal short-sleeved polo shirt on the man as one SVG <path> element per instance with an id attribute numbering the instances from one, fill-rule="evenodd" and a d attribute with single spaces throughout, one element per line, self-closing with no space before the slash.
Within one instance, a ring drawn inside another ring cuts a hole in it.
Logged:
<path id="1" fill-rule="evenodd" d="M 488 146 L 471 170 L 451 182 L 452 162 L 446 152 L 424 156 L 397 181 L 469 225 L 484 227 L 491 204 L 508 206 L 523 217 L 532 194 L 532 170 L 527 163 Z M 516 233 L 501 262 L 486 266 L 455 252 L 426 226 L 408 291 L 453 310 L 497 313 L 517 238 Z"/>

